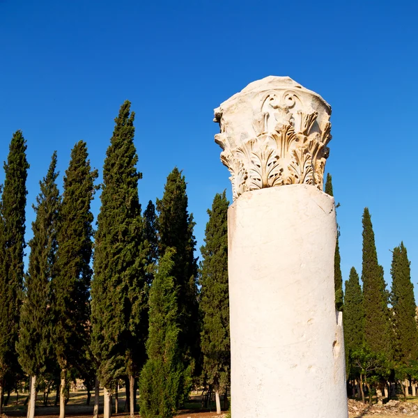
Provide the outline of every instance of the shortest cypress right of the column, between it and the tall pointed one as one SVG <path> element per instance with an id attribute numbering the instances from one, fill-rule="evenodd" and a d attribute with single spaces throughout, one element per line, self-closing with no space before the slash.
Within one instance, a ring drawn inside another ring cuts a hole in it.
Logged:
<path id="1" fill-rule="evenodd" d="M 346 280 L 343 323 L 346 359 L 348 359 L 346 369 L 350 371 L 352 355 L 360 350 L 364 343 L 363 294 L 359 284 L 359 275 L 354 267 L 351 268 L 350 277 Z"/>

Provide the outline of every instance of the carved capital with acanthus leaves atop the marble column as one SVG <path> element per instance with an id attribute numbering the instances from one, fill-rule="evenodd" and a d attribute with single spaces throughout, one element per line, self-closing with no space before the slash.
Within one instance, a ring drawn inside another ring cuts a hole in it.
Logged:
<path id="1" fill-rule="evenodd" d="M 233 199 L 291 184 L 323 189 L 331 107 L 289 77 L 265 77 L 215 109 L 215 142 L 231 172 Z"/>

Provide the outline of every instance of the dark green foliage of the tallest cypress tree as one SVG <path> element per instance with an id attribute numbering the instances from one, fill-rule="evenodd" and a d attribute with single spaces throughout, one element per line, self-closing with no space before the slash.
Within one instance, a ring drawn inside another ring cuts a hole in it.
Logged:
<path id="1" fill-rule="evenodd" d="M 103 168 L 102 206 L 95 233 L 92 342 L 102 384 L 125 371 L 136 376 L 146 359 L 148 300 L 144 222 L 138 198 L 134 112 L 121 106 Z"/>

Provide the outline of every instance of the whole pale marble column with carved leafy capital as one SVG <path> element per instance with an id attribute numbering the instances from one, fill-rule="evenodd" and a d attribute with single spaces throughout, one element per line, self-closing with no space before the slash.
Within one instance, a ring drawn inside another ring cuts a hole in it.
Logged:
<path id="1" fill-rule="evenodd" d="M 348 417 L 335 206 L 322 191 L 330 114 L 289 77 L 253 82 L 215 109 L 234 199 L 233 418 Z"/>

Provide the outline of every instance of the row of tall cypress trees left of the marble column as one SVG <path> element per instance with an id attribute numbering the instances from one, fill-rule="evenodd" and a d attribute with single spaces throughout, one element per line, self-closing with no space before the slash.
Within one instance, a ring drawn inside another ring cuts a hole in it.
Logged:
<path id="1" fill-rule="evenodd" d="M 96 395 L 99 383 L 104 387 L 104 417 L 111 416 L 111 396 L 117 396 L 121 378 L 129 387 L 131 416 L 139 384 L 143 417 L 172 417 L 201 376 L 215 389 L 218 404 L 228 385 L 229 202 L 225 193 L 215 196 L 199 268 L 185 177 L 173 169 L 156 208 L 150 201 L 142 212 L 130 102 L 123 103 L 115 122 L 100 186 L 84 141 L 72 149 L 62 195 L 52 155 L 33 206 L 26 273 L 29 164 L 22 132 L 10 143 L 1 194 L 0 412 L 3 390 L 24 379 L 23 373 L 31 381 L 29 418 L 38 378 L 47 375 L 60 388 L 61 418 L 74 376 L 88 389 L 95 386 Z M 93 231 L 91 201 L 99 187 Z"/>

